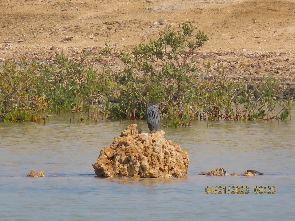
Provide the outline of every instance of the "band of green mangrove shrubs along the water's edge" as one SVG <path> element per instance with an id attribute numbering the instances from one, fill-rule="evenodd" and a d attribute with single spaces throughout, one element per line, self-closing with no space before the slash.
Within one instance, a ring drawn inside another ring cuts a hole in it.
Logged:
<path id="1" fill-rule="evenodd" d="M 219 67 L 212 81 L 204 80 L 194 53 L 208 37 L 197 29 L 190 22 L 167 26 L 158 38 L 130 52 L 106 43 L 99 54 L 85 50 L 77 60 L 60 53 L 50 63 L 3 62 L 0 121 L 45 123 L 53 113 L 66 112 L 80 113 L 81 120 L 84 112 L 88 119 L 98 114 L 107 119 L 143 118 L 152 102 L 163 105 L 163 126 L 185 127 L 196 119 L 288 118 L 294 103 L 291 98 L 276 99 L 275 79 L 266 78 L 257 90 L 250 90 L 246 83 L 227 80 Z M 210 67 L 210 62 L 204 65 Z"/>

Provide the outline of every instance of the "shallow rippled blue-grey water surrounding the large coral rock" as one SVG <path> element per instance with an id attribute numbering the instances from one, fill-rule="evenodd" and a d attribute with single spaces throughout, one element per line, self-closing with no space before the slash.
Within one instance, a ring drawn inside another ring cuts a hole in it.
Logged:
<path id="1" fill-rule="evenodd" d="M 75 119 L 76 120 L 76 119 Z M 294 220 L 295 121 L 194 122 L 163 128 L 189 154 L 184 178 L 97 178 L 92 164 L 128 121 L 0 123 L 0 220 Z M 137 122 L 148 131 L 145 121 Z M 258 170 L 268 176 L 208 177 Z M 30 170 L 47 177 L 27 178 Z M 52 177 L 55 174 L 57 177 Z M 206 187 L 222 194 L 206 194 Z M 228 194 L 229 187 L 248 194 Z M 255 187 L 275 194 L 255 194 Z M 245 192 L 245 191 L 244 191 Z"/>

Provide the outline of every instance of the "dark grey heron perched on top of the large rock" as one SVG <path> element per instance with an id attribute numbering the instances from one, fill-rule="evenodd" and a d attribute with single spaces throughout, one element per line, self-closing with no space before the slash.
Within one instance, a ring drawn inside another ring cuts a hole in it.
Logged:
<path id="1" fill-rule="evenodd" d="M 145 112 L 145 119 L 147 120 L 150 133 L 152 133 L 152 131 L 157 131 L 160 125 L 161 113 L 158 107 L 158 103 L 153 102 Z"/>

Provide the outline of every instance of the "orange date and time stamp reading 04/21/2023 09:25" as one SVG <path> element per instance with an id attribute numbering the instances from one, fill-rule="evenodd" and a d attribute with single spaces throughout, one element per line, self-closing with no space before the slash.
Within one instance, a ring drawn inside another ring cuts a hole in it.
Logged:
<path id="1" fill-rule="evenodd" d="M 276 187 L 254 187 L 255 194 L 275 194 Z M 249 187 L 205 187 L 205 193 L 209 194 L 248 194 Z"/>

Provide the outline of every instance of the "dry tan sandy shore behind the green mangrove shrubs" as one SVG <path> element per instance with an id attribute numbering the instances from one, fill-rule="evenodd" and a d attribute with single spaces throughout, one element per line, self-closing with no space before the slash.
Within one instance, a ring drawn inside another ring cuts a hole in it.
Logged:
<path id="1" fill-rule="evenodd" d="M 209 40 L 196 52 L 205 77 L 222 64 L 229 79 L 295 84 L 295 2 L 288 0 L 0 0 L 0 60 L 77 57 L 105 42 L 130 50 L 165 25 L 192 21 Z M 165 24 L 155 23 L 164 19 Z M 21 41 L 19 41 L 21 40 Z M 17 42 L 19 41 L 19 42 Z M 29 47 L 27 53 L 27 47 Z M 203 61 L 210 61 L 207 70 Z"/>

